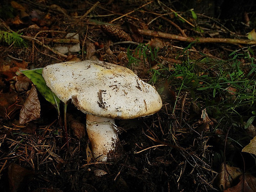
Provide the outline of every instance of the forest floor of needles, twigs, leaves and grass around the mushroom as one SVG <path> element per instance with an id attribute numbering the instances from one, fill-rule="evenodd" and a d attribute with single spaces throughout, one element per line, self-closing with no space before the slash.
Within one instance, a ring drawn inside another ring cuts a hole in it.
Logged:
<path id="1" fill-rule="evenodd" d="M 5 1 L 0 13 L 1 192 L 256 191 L 256 158 L 242 152 L 256 135 L 255 13 L 79 0 Z M 40 92 L 21 113 L 33 87 L 22 70 L 85 59 L 128 67 L 163 101 L 156 114 L 116 120 L 123 151 L 111 162 L 91 158 L 72 104 L 69 148 Z"/>

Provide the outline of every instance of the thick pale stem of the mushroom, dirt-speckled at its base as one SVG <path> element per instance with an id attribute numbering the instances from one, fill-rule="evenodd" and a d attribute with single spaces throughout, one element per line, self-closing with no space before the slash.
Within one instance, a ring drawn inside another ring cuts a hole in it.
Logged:
<path id="1" fill-rule="evenodd" d="M 107 161 L 108 154 L 116 148 L 119 139 L 114 124 L 114 119 L 86 115 L 86 129 L 92 155 L 98 161 Z"/>

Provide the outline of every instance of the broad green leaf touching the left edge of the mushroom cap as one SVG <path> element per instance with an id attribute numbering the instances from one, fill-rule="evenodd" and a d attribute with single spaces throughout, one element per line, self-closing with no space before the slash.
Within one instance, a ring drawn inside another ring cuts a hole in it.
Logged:
<path id="1" fill-rule="evenodd" d="M 43 97 L 53 104 L 58 112 L 59 112 L 59 104 L 60 100 L 59 98 L 50 90 L 49 87 L 47 87 L 45 83 L 45 79 L 42 76 L 42 70 L 40 69 L 33 69 L 33 70 L 23 70 L 21 71 L 25 76 L 27 76 L 33 83 L 36 85 L 36 88 L 38 91 L 43 95 Z"/>

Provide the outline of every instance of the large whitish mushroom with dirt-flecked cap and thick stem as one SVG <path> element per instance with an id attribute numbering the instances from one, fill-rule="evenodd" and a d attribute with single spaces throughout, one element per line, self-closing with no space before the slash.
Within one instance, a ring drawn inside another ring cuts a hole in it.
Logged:
<path id="1" fill-rule="evenodd" d="M 111 159 L 119 141 L 114 119 L 134 119 L 162 107 L 156 89 L 130 69 L 102 61 L 62 62 L 43 69 L 47 86 L 59 99 L 69 100 L 86 115 L 92 154 Z"/>

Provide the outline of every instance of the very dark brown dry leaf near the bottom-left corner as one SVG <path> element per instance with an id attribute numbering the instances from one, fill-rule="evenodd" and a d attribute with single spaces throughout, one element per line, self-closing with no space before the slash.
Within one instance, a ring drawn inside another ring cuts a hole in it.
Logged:
<path id="1" fill-rule="evenodd" d="M 33 171 L 27 170 L 17 164 L 11 164 L 8 168 L 10 191 L 19 191 L 19 188 L 25 185 L 32 176 Z"/>

